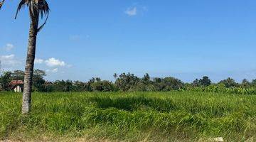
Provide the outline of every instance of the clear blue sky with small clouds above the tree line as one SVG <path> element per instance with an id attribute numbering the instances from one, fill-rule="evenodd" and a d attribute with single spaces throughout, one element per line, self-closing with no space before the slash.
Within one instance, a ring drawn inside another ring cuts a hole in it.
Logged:
<path id="1" fill-rule="evenodd" d="M 82 80 L 114 72 L 178 77 L 256 79 L 255 0 L 50 1 L 38 35 L 36 68 L 47 80 Z M 14 20 L 18 1 L 0 11 L 4 70 L 23 70 L 29 18 Z"/>

